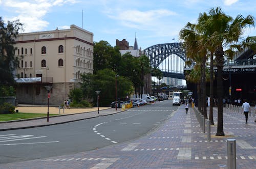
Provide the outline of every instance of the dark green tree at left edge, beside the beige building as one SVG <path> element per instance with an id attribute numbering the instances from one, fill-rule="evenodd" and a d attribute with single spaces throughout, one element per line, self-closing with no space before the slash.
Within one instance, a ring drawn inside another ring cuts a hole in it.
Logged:
<path id="1" fill-rule="evenodd" d="M 22 23 L 18 20 L 8 21 L 5 24 L 2 17 L 0 17 L 0 90 L 15 84 L 13 72 L 18 67 L 19 58 L 14 55 L 15 48 L 13 45 L 20 29 L 22 29 Z M 11 88 L 8 90 L 11 90 Z M 0 93 L 4 93 L 4 91 Z"/>

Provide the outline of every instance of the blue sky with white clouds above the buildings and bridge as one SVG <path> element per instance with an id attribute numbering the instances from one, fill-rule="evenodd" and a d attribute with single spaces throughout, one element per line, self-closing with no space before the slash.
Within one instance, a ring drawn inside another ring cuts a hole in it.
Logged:
<path id="1" fill-rule="evenodd" d="M 145 49 L 161 43 L 179 42 L 179 32 L 186 23 L 197 23 L 200 13 L 221 7 L 235 18 L 256 17 L 255 0 L 0 0 L 0 17 L 19 19 L 24 32 L 69 29 L 75 24 L 94 34 L 94 42 L 126 39 Z M 244 37 L 256 36 L 256 29 L 246 29 Z"/>

